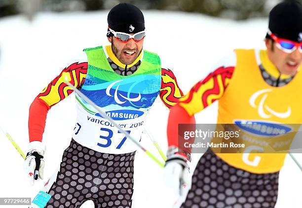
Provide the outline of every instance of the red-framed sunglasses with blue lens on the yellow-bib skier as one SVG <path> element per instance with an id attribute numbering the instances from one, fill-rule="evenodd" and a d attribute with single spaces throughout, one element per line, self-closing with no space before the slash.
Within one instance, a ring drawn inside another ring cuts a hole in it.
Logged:
<path id="1" fill-rule="evenodd" d="M 267 34 L 276 42 L 276 46 L 280 50 L 286 53 L 292 53 L 298 48 L 299 52 L 302 53 L 302 42 L 298 43 L 292 40 L 279 38 L 272 34 L 270 30 L 268 30 Z"/>

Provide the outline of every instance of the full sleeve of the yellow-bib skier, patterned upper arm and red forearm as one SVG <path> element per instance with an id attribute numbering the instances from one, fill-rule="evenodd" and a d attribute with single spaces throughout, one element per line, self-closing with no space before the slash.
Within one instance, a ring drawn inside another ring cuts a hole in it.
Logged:
<path id="1" fill-rule="evenodd" d="M 179 146 L 178 124 L 195 124 L 194 114 L 223 96 L 233 71 L 234 67 L 220 67 L 214 70 L 205 79 L 195 84 L 189 93 L 172 107 L 167 126 L 169 146 Z M 190 148 L 182 150 L 190 152 Z"/>

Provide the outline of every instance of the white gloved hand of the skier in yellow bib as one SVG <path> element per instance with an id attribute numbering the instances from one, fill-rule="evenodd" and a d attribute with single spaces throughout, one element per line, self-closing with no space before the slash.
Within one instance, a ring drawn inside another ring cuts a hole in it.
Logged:
<path id="1" fill-rule="evenodd" d="M 164 180 L 166 185 L 183 197 L 191 187 L 188 159 L 178 153 L 168 154 L 164 168 Z"/>

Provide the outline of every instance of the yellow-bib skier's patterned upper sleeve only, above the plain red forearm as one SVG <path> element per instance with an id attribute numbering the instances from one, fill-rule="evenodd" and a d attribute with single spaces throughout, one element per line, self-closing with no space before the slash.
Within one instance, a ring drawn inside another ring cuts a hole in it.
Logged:
<path id="1" fill-rule="evenodd" d="M 179 104 L 191 116 L 220 99 L 232 77 L 234 67 L 220 67 L 197 82 Z"/>

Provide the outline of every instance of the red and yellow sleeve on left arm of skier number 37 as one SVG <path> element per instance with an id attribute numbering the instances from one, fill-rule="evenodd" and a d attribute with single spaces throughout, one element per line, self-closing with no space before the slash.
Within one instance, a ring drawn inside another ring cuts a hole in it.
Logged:
<path id="1" fill-rule="evenodd" d="M 42 92 L 38 94 L 29 110 L 28 129 L 30 141 L 42 141 L 48 110 L 73 92 L 72 88 L 60 79 L 62 73 L 70 73 L 72 79 L 70 83 L 76 88 L 79 88 L 85 81 L 87 68 L 87 62 L 71 64 L 69 67 L 63 69 L 60 75 L 54 78 Z"/>

